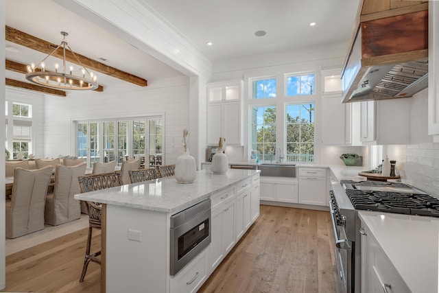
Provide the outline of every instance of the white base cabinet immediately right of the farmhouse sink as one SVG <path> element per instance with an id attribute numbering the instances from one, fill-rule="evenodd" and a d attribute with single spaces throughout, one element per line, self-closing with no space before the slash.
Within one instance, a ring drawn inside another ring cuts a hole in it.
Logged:
<path id="1" fill-rule="evenodd" d="M 298 203 L 327 206 L 327 169 L 299 168 Z"/>

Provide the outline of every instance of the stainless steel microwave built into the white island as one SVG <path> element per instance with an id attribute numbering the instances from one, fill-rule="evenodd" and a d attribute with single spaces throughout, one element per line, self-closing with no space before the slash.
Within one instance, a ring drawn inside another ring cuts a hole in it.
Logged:
<path id="1" fill-rule="evenodd" d="M 211 243 L 211 200 L 171 215 L 171 268 L 174 276 Z"/>

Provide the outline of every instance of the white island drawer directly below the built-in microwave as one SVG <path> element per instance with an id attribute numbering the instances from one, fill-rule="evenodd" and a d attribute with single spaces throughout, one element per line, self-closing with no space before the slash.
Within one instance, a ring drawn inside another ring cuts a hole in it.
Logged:
<path id="1" fill-rule="evenodd" d="M 207 251 L 205 249 L 183 268 L 176 277 L 171 278 L 171 293 L 196 292 L 207 279 Z"/>

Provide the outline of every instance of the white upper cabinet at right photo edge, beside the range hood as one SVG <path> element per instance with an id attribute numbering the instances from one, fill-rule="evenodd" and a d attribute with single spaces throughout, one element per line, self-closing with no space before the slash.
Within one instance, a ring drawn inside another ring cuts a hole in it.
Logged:
<path id="1" fill-rule="evenodd" d="M 428 10 L 428 134 L 439 141 L 439 3 L 429 1 Z"/>

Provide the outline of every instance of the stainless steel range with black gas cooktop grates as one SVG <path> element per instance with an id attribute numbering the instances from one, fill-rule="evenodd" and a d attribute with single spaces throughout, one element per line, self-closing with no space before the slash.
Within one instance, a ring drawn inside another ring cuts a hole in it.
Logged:
<path id="1" fill-rule="evenodd" d="M 333 181 L 332 187 L 329 204 L 337 247 L 339 292 L 361 292 L 358 210 L 439 217 L 439 199 L 407 184 L 341 180 Z"/>

